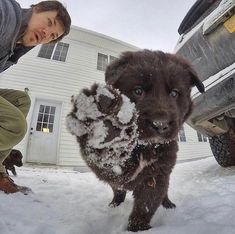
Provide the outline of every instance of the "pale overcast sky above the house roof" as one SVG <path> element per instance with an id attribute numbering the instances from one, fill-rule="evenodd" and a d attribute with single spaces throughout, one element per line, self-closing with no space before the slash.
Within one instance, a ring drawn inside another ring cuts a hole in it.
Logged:
<path id="1" fill-rule="evenodd" d="M 29 7 L 40 0 L 17 0 Z M 61 0 L 72 24 L 140 48 L 173 52 L 178 26 L 196 0 Z"/>

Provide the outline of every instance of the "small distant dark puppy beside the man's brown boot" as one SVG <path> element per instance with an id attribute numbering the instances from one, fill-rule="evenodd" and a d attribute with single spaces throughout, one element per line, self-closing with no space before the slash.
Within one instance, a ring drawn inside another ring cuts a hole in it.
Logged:
<path id="1" fill-rule="evenodd" d="M 23 166 L 22 158 L 23 158 L 23 155 L 21 154 L 19 150 L 13 149 L 10 152 L 10 154 L 2 163 L 6 168 L 7 174 L 9 174 L 7 170 L 10 170 L 14 176 L 17 175 L 14 166 L 17 166 L 17 167 Z"/>

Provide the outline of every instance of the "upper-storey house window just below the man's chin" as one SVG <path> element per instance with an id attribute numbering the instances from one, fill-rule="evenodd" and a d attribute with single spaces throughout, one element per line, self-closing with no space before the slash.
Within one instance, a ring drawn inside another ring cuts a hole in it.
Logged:
<path id="1" fill-rule="evenodd" d="M 38 57 L 65 62 L 69 44 L 58 42 L 57 44 L 45 44 L 41 46 Z"/>

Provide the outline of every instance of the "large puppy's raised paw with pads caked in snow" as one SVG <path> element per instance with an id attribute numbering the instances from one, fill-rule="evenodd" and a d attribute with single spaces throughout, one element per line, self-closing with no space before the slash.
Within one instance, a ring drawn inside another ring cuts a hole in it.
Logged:
<path id="1" fill-rule="evenodd" d="M 66 125 L 68 130 L 78 137 L 98 129 L 97 126 L 100 127 L 98 132 L 104 130 L 110 133 L 109 129 L 117 130 L 113 132 L 114 136 L 119 135 L 119 138 L 123 138 L 130 130 L 132 134 L 133 129 L 137 131 L 138 113 L 135 104 L 112 86 L 95 84 L 73 97 L 72 103 L 73 109 L 66 118 Z M 108 138 L 113 139 L 113 136 L 107 136 Z"/>

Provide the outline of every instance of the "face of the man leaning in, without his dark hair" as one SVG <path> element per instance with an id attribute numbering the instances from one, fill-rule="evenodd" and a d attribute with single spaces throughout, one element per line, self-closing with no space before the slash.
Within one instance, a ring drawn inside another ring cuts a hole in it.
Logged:
<path id="1" fill-rule="evenodd" d="M 62 24 L 56 19 L 56 11 L 44 11 L 37 13 L 33 9 L 27 30 L 23 35 L 24 46 L 36 46 L 49 43 L 64 33 Z"/>

